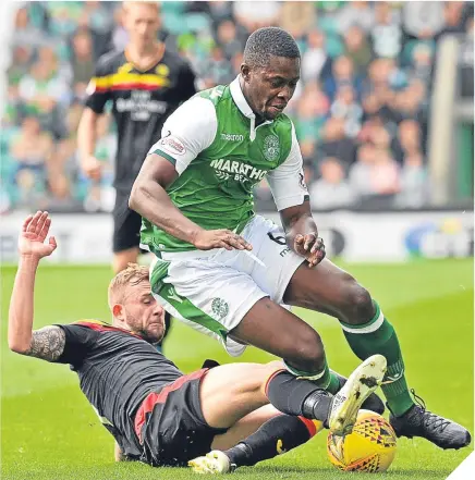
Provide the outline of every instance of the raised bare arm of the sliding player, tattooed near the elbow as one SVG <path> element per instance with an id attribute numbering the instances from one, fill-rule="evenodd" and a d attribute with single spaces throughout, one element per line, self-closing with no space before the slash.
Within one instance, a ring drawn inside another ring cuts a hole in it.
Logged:
<path id="1" fill-rule="evenodd" d="M 54 237 L 48 236 L 51 219 L 38 211 L 23 223 L 19 237 L 20 263 L 9 310 L 9 347 L 22 355 L 56 361 L 64 349 L 65 336 L 59 327 L 46 327 L 33 332 L 36 270 L 41 258 L 51 255 Z"/>

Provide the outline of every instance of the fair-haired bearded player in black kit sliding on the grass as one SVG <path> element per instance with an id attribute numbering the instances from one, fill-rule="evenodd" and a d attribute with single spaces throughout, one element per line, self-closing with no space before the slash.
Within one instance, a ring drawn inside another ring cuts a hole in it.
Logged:
<path id="1" fill-rule="evenodd" d="M 38 211 L 23 224 L 9 346 L 71 365 L 115 439 L 117 459 L 227 472 L 296 447 L 324 427 L 351 429 L 360 407 L 375 404 L 373 392 L 386 370 L 382 356 L 363 362 L 334 396 L 296 379 L 279 361 L 183 374 L 154 346 L 165 333 L 163 308 L 151 294 L 148 269 L 137 264 L 110 283 L 112 324 L 83 320 L 33 331 L 36 271 L 56 249 L 53 237 L 45 243 L 50 223 Z"/>

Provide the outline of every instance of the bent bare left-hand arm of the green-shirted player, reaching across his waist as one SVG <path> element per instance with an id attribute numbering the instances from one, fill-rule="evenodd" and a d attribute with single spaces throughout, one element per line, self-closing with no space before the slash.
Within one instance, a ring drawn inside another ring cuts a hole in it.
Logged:
<path id="1" fill-rule="evenodd" d="M 199 250 L 252 250 L 251 244 L 230 230 L 204 230 L 187 219 L 166 192 L 178 176 L 171 162 L 159 155 L 149 155 L 132 187 L 129 207 L 168 234 Z"/>

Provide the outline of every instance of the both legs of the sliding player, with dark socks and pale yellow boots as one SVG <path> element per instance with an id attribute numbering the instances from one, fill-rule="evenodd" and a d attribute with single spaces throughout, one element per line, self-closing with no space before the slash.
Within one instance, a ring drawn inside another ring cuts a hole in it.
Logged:
<path id="1" fill-rule="evenodd" d="M 361 405 L 382 380 L 386 360 L 375 356 L 362 364 L 334 403 L 331 395 L 314 383 L 299 380 L 281 367 L 280 362 L 234 364 L 207 372 L 199 391 L 203 416 L 210 427 L 231 428 L 228 436 L 216 439 L 212 446 L 223 448 L 236 441 L 238 444 L 190 460 L 195 471 L 223 473 L 233 466 L 251 466 L 272 458 L 302 445 L 321 430 L 324 422 L 339 434 L 349 433 Z M 288 415 L 264 410 L 268 398 Z M 242 439 L 252 430 L 255 431 Z"/>

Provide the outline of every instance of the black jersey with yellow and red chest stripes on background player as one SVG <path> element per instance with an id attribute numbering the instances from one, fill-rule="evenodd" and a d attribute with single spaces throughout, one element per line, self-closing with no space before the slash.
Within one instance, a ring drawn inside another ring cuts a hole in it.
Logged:
<path id="1" fill-rule="evenodd" d="M 130 192 L 147 151 L 160 138 L 165 121 L 195 93 L 195 75 L 178 53 L 165 50 L 142 71 L 126 51 L 99 59 L 86 106 L 102 113 L 106 103 L 112 102 L 118 127 L 115 188 Z"/>

